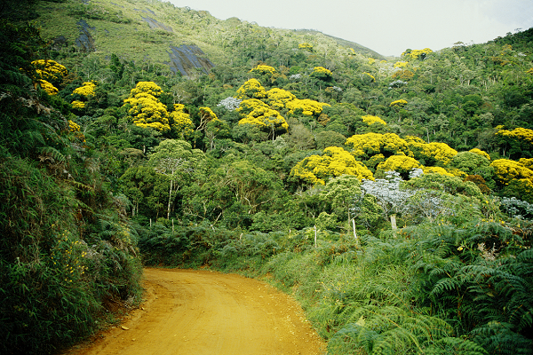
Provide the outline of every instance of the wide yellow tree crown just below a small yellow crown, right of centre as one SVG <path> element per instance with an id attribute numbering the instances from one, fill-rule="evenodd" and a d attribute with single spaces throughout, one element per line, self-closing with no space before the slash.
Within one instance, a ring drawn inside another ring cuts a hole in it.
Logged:
<path id="1" fill-rule="evenodd" d="M 346 146 L 352 148 L 351 153 L 355 157 L 364 159 L 378 154 L 383 154 L 384 157 L 391 155 L 413 156 L 407 141 L 394 133 L 356 134 L 346 139 Z"/>

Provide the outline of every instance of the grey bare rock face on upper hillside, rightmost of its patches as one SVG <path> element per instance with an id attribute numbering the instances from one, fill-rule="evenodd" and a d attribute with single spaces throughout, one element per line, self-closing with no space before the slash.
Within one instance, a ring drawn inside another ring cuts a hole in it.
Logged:
<path id="1" fill-rule="evenodd" d="M 174 73 L 180 72 L 181 75 L 192 75 L 196 68 L 208 73 L 211 67 L 215 67 L 210 59 L 205 58 L 205 53 L 195 45 L 183 44 L 179 47 L 171 45 L 169 56 L 171 62 L 165 64 L 168 64 Z"/>

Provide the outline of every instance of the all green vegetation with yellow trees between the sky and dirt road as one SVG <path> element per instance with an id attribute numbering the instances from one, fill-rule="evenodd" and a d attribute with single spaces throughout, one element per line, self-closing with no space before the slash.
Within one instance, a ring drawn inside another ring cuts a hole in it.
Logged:
<path id="1" fill-rule="evenodd" d="M 158 0 L 0 5 L 2 353 L 262 277 L 330 354 L 530 354 L 533 28 L 385 58 Z"/>

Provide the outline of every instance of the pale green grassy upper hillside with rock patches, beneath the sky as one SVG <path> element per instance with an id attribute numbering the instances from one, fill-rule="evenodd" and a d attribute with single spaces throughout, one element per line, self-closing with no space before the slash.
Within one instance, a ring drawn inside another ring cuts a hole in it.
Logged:
<path id="1" fill-rule="evenodd" d="M 260 28 L 236 18 L 218 20 L 209 12 L 177 8 L 158 1 L 42 2 L 37 13 L 44 38 L 52 40 L 58 48 L 75 45 L 76 51 L 91 52 L 92 57 L 99 59 L 114 53 L 136 62 L 174 63 L 172 69 L 182 67 L 183 75 L 191 75 L 193 67 L 209 70 L 211 61 L 222 64 L 239 60 L 243 54 L 235 51 L 235 47 L 251 51 L 259 38 L 264 43 L 269 38 L 278 42 L 283 38 L 282 43 L 275 45 L 288 48 L 313 39 L 323 45 L 338 43 L 346 49 L 354 48 L 355 52 L 382 59 L 360 44 L 317 31 Z M 195 53 L 189 53 L 188 60 L 180 60 L 176 48 L 189 44 L 195 46 Z M 255 55 L 260 58 L 272 49 L 264 47 L 257 51 Z M 250 55 L 253 58 L 253 54 Z M 203 63 L 194 63 L 195 59 L 190 58 L 203 58 Z"/>

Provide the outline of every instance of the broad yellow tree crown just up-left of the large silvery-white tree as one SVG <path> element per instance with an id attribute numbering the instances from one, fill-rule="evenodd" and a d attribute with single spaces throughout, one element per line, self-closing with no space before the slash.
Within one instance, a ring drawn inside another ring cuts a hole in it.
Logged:
<path id="1" fill-rule="evenodd" d="M 324 185 L 328 178 L 342 175 L 353 175 L 360 180 L 374 179 L 372 172 L 362 162 L 338 146 L 325 148 L 322 155 L 308 156 L 290 170 L 290 177 L 309 185 Z"/>

